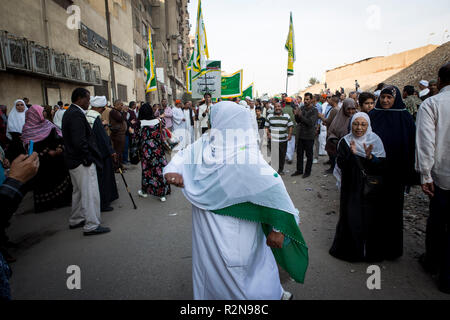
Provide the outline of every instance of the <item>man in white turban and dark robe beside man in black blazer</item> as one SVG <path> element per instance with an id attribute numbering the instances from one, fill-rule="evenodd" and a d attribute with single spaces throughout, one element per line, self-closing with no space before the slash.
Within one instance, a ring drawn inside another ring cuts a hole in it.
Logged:
<path id="1" fill-rule="evenodd" d="M 92 132 L 101 154 L 102 168 L 97 169 L 98 186 L 100 190 L 101 212 L 113 211 L 111 202 L 119 198 L 116 179 L 114 177 L 113 159 L 117 161 L 111 140 L 106 134 L 102 123 L 102 113 L 107 104 L 106 97 L 91 97 L 91 108 L 86 113 L 86 119 L 92 128 Z"/>

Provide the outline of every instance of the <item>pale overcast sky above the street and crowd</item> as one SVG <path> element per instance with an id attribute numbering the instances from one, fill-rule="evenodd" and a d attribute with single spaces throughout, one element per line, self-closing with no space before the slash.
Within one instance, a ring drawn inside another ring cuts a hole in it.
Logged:
<path id="1" fill-rule="evenodd" d="M 192 35 L 197 6 L 190 0 Z M 222 61 L 226 73 L 244 69 L 243 89 L 254 82 L 260 96 L 286 91 L 291 11 L 296 62 L 290 95 L 311 77 L 323 83 L 326 70 L 450 40 L 449 0 L 203 0 L 202 10 L 210 60 Z"/>

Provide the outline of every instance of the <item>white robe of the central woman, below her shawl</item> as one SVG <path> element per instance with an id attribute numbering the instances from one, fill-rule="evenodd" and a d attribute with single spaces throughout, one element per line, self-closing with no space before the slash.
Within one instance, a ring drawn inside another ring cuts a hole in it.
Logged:
<path id="1" fill-rule="evenodd" d="M 192 207 L 195 300 L 280 300 L 278 267 L 260 223 Z"/>

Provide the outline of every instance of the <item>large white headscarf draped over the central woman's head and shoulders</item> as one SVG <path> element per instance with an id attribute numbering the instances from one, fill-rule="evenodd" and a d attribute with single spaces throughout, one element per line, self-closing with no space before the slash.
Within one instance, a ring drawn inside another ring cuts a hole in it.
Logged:
<path id="1" fill-rule="evenodd" d="M 251 202 L 289 212 L 297 220 L 298 210 L 283 180 L 259 150 L 253 118 L 250 110 L 236 103 L 215 104 L 211 108 L 211 131 L 178 152 L 164 174 L 181 174 L 184 195 L 200 209 L 213 211 Z M 235 142 L 226 138 L 227 130 L 241 130 L 247 135 L 241 141 L 238 135 Z"/>

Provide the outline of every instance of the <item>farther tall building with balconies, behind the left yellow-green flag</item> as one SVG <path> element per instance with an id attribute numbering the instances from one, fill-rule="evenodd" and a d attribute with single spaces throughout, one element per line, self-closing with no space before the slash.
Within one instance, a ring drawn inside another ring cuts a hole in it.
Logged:
<path id="1" fill-rule="evenodd" d="M 185 69 L 191 53 L 189 0 L 132 0 L 137 99 L 181 99 L 186 91 Z M 145 95 L 144 63 L 148 30 L 152 32 L 158 91 Z"/>

